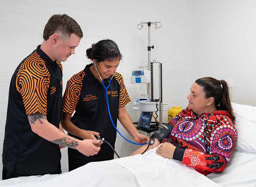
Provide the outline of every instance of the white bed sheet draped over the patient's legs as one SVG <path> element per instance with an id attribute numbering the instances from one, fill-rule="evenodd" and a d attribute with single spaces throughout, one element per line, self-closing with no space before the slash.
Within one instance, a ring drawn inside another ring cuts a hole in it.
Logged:
<path id="1" fill-rule="evenodd" d="M 23 183 L 23 178 L 0 182 L 1 186 L 197 186 L 220 187 L 209 178 L 196 172 L 180 161 L 166 159 L 149 150 L 145 155 L 135 155 L 111 161 L 92 162 L 71 172 L 39 181 L 41 177 L 30 176 L 32 182 Z M 44 176 L 43 176 L 44 177 Z M 36 179 L 37 178 L 37 179 Z M 35 181 L 36 180 L 36 181 Z"/>

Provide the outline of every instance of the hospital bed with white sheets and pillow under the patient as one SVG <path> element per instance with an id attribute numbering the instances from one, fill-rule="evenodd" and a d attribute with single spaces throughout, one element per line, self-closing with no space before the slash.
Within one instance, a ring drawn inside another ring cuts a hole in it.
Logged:
<path id="1" fill-rule="evenodd" d="M 221 174 L 204 176 L 180 161 L 149 150 L 104 162 L 92 162 L 60 175 L 18 177 L 0 186 L 256 186 L 256 107 L 232 103 L 238 133 L 235 151 Z"/>

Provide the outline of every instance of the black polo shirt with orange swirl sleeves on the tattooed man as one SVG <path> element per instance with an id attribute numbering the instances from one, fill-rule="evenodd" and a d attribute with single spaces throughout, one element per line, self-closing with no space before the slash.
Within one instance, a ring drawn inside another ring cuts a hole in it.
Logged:
<path id="1" fill-rule="evenodd" d="M 61 109 L 61 63 L 53 62 L 39 45 L 11 79 L 2 155 L 8 171 L 41 174 L 57 170 L 59 146 L 34 133 L 27 115 L 39 112 L 59 128 Z"/>

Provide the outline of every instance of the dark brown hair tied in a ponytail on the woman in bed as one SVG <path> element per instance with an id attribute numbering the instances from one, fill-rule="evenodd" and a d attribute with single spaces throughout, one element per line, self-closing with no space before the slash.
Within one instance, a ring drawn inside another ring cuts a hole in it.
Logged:
<path id="1" fill-rule="evenodd" d="M 212 77 L 203 77 L 197 79 L 195 83 L 203 87 L 205 98 L 214 98 L 214 104 L 218 110 L 228 110 L 232 121 L 236 119 L 231 107 L 228 84 L 226 81 L 217 80 Z"/>

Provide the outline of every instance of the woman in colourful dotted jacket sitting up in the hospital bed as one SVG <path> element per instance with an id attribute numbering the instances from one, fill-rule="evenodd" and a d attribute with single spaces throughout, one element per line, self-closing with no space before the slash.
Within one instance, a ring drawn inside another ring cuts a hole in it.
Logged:
<path id="1" fill-rule="evenodd" d="M 188 107 L 152 135 L 155 143 L 149 149 L 161 142 L 157 155 L 180 160 L 204 175 L 221 173 L 237 138 L 228 85 L 224 80 L 203 77 L 197 79 L 190 90 Z M 132 155 L 140 154 L 146 147 L 141 146 Z"/>

